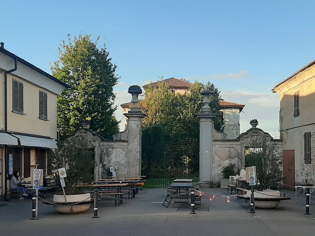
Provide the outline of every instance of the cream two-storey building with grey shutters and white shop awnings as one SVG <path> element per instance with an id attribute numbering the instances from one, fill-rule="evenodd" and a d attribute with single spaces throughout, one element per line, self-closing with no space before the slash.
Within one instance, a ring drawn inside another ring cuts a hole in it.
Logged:
<path id="1" fill-rule="evenodd" d="M 9 73 L 8 73 L 9 72 Z M 57 96 L 68 85 L 0 48 L 0 198 L 9 198 L 14 171 L 30 177 L 47 169 L 47 153 L 57 148 Z"/>

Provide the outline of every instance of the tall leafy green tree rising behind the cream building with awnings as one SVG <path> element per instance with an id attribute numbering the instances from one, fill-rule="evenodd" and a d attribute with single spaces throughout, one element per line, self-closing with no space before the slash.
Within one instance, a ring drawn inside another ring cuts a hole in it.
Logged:
<path id="1" fill-rule="evenodd" d="M 80 121 L 91 121 L 91 130 L 104 138 L 118 132 L 118 122 L 113 113 L 115 93 L 113 87 L 118 82 L 117 68 L 113 65 L 105 44 L 98 47 L 90 35 L 74 37 L 68 35 L 68 44 L 63 41 L 59 50 L 59 60 L 51 65 L 53 76 L 71 86 L 57 99 L 58 127 L 63 126 L 63 138 L 74 134 Z"/>

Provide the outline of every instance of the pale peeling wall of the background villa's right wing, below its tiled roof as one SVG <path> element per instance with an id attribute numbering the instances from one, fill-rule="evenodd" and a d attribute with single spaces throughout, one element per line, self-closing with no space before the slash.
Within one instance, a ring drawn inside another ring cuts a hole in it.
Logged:
<path id="1" fill-rule="evenodd" d="M 223 119 L 225 121 L 224 132 L 227 134 L 227 139 L 234 139 L 240 135 L 239 125 L 239 108 L 222 108 Z"/>

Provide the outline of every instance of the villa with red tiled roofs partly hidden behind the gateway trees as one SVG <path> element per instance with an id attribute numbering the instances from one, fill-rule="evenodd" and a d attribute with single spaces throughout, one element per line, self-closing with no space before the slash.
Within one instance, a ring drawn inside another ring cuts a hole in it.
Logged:
<path id="1" fill-rule="evenodd" d="M 167 85 L 169 85 L 169 89 L 171 92 L 176 94 L 187 94 L 189 93 L 189 87 L 192 85 L 192 83 L 176 79 L 174 77 L 163 80 Z M 158 87 L 161 81 L 153 82 L 150 84 L 146 84 L 143 86 L 144 89 L 150 87 Z M 220 110 L 220 116 L 225 121 L 224 125 L 224 132 L 227 135 L 227 139 L 235 139 L 240 135 L 240 124 L 239 124 L 239 116 L 245 105 L 233 103 L 233 102 L 227 102 L 227 101 L 219 101 L 221 110 Z M 130 110 L 132 104 L 131 103 L 124 103 L 120 105 L 125 112 L 128 113 Z M 125 124 L 125 127 L 127 127 L 127 123 Z"/>

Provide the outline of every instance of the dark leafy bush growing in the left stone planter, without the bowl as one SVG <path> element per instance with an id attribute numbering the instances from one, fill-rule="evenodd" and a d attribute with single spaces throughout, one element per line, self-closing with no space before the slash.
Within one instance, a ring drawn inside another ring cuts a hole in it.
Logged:
<path id="1" fill-rule="evenodd" d="M 66 167 L 65 192 L 68 195 L 80 194 L 77 190 L 79 183 L 94 181 L 95 158 L 93 149 L 89 148 L 86 138 L 75 136 L 57 143 L 58 149 L 52 152 L 52 165 L 54 169 Z M 61 187 L 60 180 L 56 185 Z"/>

